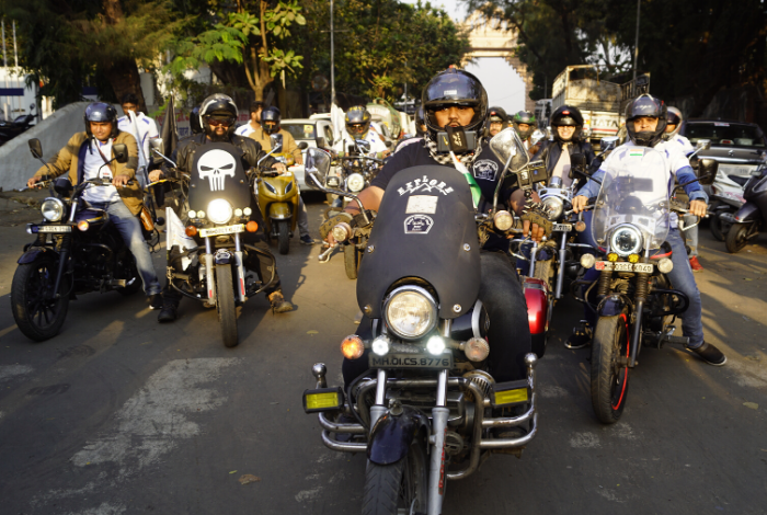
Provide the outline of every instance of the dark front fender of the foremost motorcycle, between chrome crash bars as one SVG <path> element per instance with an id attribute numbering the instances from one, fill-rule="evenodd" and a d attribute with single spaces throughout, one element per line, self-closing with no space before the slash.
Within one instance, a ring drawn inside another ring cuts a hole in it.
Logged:
<path id="1" fill-rule="evenodd" d="M 402 407 L 402 414 L 394 416 L 387 411 L 370 432 L 367 458 L 377 465 L 391 465 L 408 455 L 410 444 L 424 427 L 428 434 L 428 419 L 421 412 Z"/>

